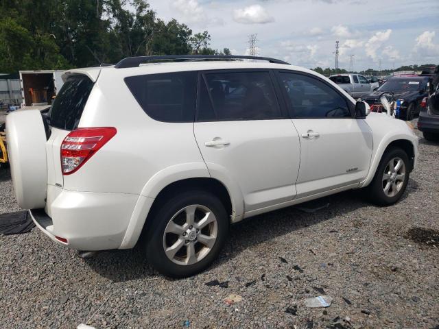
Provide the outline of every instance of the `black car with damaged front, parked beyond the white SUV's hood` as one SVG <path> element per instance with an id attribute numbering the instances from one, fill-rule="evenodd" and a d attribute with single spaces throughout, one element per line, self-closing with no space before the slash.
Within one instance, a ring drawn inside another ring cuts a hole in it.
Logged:
<path id="1" fill-rule="evenodd" d="M 412 120 L 420 111 L 420 103 L 428 96 L 428 82 L 431 77 L 392 77 L 382 86 L 364 96 L 370 106 L 381 104 L 380 96 L 383 93 L 392 93 L 394 99 L 399 100 L 401 106 L 396 110 L 396 117 L 403 120 Z"/>

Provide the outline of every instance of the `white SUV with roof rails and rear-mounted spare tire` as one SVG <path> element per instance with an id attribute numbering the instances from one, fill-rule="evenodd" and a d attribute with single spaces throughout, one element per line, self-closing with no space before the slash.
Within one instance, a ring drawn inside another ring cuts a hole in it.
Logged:
<path id="1" fill-rule="evenodd" d="M 243 58 L 66 71 L 49 112 L 8 115 L 17 202 L 61 245 L 141 243 L 184 277 L 215 259 L 230 223 L 352 188 L 399 200 L 418 154 L 410 125 L 318 73 Z"/>

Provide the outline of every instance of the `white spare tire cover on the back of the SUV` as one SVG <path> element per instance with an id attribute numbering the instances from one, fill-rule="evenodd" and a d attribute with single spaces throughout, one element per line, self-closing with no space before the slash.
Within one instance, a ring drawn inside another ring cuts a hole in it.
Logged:
<path id="1" fill-rule="evenodd" d="M 16 201 L 21 208 L 44 208 L 47 140 L 40 111 L 17 110 L 8 114 L 6 140 Z"/>

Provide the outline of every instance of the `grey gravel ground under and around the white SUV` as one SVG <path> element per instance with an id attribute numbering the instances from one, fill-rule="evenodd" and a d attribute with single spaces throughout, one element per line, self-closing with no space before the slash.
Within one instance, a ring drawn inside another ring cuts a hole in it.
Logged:
<path id="1" fill-rule="evenodd" d="M 1 236 L 0 327 L 439 328 L 438 236 L 422 243 L 413 230 L 439 230 L 438 156 L 421 138 L 394 206 L 348 192 L 320 199 L 330 205 L 317 212 L 285 208 L 234 226 L 214 265 L 185 280 L 158 275 L 138 249 L 84 260 L 37 229 Z M 0 212 L 16 210 L 3 169 L 0 193 Z M 241 301 L 226 304 L 230 294 Z M 304 305 L 322 294 L 328 308 Z"/>

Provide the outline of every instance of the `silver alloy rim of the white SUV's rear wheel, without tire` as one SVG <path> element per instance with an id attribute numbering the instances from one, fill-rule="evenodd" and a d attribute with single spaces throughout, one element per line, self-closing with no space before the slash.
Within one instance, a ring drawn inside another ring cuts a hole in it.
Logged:
<path id="1" fill-rule="evenodd" d="M 211 252 L 217 231 L 212 210 L 199 204 L 186 206 L 167 223 L 163 234 L 165 254 L 178 265 L 198 263 Z"/>

